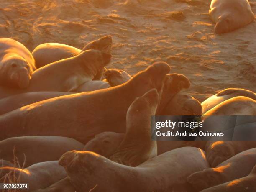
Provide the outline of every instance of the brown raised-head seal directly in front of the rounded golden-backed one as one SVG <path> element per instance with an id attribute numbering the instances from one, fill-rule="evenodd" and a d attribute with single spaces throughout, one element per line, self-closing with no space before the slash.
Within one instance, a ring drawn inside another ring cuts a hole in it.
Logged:
<path id="1" fill-rule="evenodd" d="M 8 94 L 10 96 L 23 92 L 74 92 L 85 82 L 90 82 L 100 70 L 104 69 L 110 59 L 110 54 L 101 51 L 83 51 L 77 56 L 37 69 L 32 74 L 28 88 L 24 90 L 5 89 L 0 92 L 0 98 Z"/>

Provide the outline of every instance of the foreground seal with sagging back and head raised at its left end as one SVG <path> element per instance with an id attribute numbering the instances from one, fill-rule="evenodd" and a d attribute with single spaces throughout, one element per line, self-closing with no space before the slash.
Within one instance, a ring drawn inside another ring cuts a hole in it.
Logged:
<path id="1" fill-rule="evenodd" d="M 69 151 L 61 156 L 59 164 L 77 192 L 189 191 L 187 177 L 209 167 L 204 152 L 193 147 L 168 151 L 137 167 L 118 164 L 90 151 Z"/>

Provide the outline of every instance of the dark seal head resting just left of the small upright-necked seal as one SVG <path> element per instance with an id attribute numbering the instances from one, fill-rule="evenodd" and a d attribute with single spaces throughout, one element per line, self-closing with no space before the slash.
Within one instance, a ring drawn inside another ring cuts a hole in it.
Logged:
<path id="1" fill-rule="evenodd" d="M 103 132 L 97 134 L 92 140 L 86 143 L 83 151 L 92 151 L 109 159 L 118 149 L 124 136 L 124 133 L 115 132 Z"/>

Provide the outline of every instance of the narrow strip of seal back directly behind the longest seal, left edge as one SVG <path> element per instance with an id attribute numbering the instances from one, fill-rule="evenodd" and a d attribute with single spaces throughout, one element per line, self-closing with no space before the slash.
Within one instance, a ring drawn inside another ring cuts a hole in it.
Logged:
<path id="1" fill-rule="evenodd" d="M 38 101 L 71 94 L 70 92 L 27 92 L 5 97 L 0 100 L 0 115 Z"/>

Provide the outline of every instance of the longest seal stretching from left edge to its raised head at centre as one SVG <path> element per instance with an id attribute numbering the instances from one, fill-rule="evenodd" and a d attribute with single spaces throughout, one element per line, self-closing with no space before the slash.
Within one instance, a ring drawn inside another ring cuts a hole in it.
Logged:
<path id="1" fill-rule="evenodd" d="M 1 115 L 0 140 L 48 135 L 80 141 L 84 138 L 87 143 L 88 139 L 104 131 L 124 133 L 126 112 L 133 100 L 152 88 L 162 90 L 169 70 L 168 64 L 157 62 L 123 85 L 56 97 Z M 173 82 L 176 80 L 174 78 Z"/>

